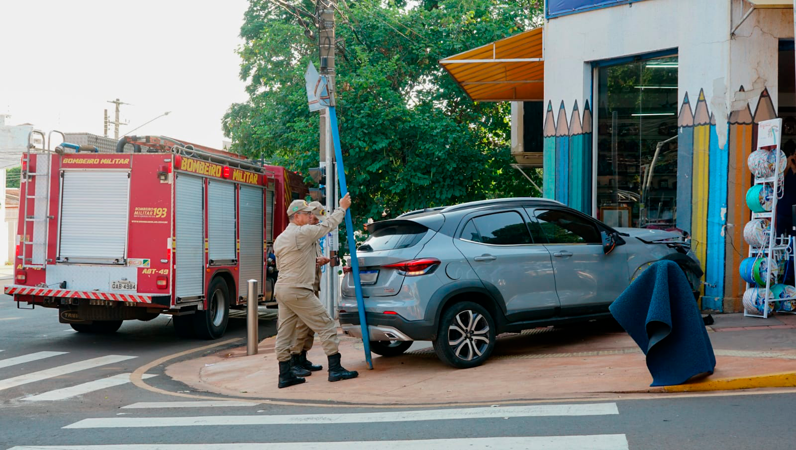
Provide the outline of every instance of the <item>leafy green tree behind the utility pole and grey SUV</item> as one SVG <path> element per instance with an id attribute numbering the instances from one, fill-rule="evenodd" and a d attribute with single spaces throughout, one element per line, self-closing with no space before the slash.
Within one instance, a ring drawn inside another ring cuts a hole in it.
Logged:
<path id="1" fill-rule="evenodd" d="M 309 0 L 251 0 L 239 50 L 249 100 L 223 119 L 233 150 L 303 174 L 318 165 L 304 80 L 310 61 L 319 66 L 314 11 Z M 357 227 L 539 194 L 509 165 L 509 103 L 474 103 L 439 60 L 529 29 L 540 14 L 538 0 L 338 2 L 337 112 Z"/>

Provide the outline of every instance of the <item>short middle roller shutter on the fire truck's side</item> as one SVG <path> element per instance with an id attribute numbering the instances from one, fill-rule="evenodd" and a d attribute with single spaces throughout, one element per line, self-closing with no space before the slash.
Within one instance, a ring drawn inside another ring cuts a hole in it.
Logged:
<path id="1" fill-rule="evenodd" d="M 209 258 L 235 259 L 235 184 L 210 180 L 207 195 Z"/>

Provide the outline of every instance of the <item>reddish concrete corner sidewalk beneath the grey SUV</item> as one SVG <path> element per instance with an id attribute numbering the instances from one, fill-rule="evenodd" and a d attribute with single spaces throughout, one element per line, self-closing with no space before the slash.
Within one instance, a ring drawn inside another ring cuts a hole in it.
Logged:
<path id="1" fill-rule="evenodd" d="M 768 319 L 743 314 L 714 316 L 708 327 L 716 353 L 714 374 L 689 384 L 650 387 L 645 356 L 616 325 L 536 328 L 497 339 L 481 367 L 458 370 L 436 358 L 430 343 L 416 343 L 400 356 L 373 355 L 367 368 L 358 339 L 341 336 L 343 366 L 359 378 L 326 381 L 326 356 L 316 342 L 309 359 L 324 370 L 306 383 L 277 389 L 274 338 L 259 344 L 175 363 L 166 374 L 192 386 L 236 398 L 363 405 L 429 405 L 556 398 L 626 398 L 634 394 L 796 386 L 796 316 Z"/>

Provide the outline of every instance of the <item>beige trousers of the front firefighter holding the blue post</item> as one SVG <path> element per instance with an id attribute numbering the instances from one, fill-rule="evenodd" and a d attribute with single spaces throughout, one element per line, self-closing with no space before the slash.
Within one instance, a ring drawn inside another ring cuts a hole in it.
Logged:
<path id="1" fill-rule="evenodd" d="M 276 359 L 279 361 L 291 359 L 291 347 L 294 344 L 297 325 L 301 322 L 318 333 L 323 352 L 327 356 L 338 353 L 340 339 L 334 320 L 311 289 L 279 287 L 277 283 L 275 294 L 279 298 L 279 323 L 276 328 L 274 349 Z"/>

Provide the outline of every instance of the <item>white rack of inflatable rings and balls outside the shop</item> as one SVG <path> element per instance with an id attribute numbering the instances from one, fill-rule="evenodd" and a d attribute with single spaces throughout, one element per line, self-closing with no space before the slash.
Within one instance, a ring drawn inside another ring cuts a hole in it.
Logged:
<path id="1" fill-rule="evenodd" d="M 747 282 L 743 293 L 744 316 L 766 318 L 773 312 L 796 313 L 796 287 L 782 283 L 786 270 L 794 270 L 796 275 L 791 260 L 796 245 L 786 235 L 777 236 L 775 227 L 771 226 L 777 200 L 782 197 L 787 165 L 785 153 L 779 149 L 780 130 L 781 118 L 760 122 L 758 135 L 763 138 L 758 139 L 758 148 L 747 159 L 755 184 L 747 191 L 751 220 L 743 227 L 749 254 L 739 267 L 741 278 Z"/>

